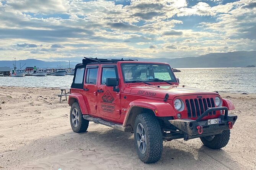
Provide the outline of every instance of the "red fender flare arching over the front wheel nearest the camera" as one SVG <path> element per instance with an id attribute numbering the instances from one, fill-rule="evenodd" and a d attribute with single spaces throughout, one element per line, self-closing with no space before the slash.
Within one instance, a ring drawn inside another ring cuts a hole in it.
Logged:
<path id="1" fill-rule="evenodd" d="M 155 111 L 155 109 L 157 109 L 157 113 L 154 112 L 155 116 L 157 116 L 157 117 L 176 116 L 173 106 L 171 106 L 170 103 L 165 103 L 162 101 L 155 101 L 155 100 L 151 100 L 151 99 L 137 99 L 137 100 L 130 102 L 130 104 L 127 108 L 126 116 L 124 117 L 123 125 L 126 125 L 127 123 L 129 123 L 128 120 L 130 119 L 130 115 L 132 114 L 131 111 L 134 107 L 150 109 L 153 112 Z M 136 116 L 137 115 L 138 115 L 138 113 L 136 114 Z"/>

